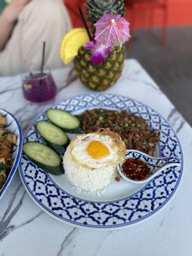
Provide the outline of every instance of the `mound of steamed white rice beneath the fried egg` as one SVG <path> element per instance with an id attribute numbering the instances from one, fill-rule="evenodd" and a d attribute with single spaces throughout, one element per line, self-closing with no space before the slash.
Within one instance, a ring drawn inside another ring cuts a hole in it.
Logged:
<path id="1" fill-rule="evenodd" d="M 82 189 L 87 192 L 104 191 L 116 177 L 115 165 L 107 168 L 88 169 L 76 164 L 70 154 L 70 145 L 63 157 L 63 168 L 67 180 L 78 190 Z"/>

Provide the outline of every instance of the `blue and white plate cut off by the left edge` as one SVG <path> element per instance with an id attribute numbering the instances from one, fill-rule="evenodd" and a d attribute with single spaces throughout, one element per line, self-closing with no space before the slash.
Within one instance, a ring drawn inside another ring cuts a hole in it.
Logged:
<path id="1" fill-rule="evenodd" d="M 17 136 L 17 143 L 16 143 L 17 147 L 14 146 L 12 148 L 12 161 L 13 161 L 12 170 L 10 171 L 8 179 L 6 180 L 3 188 L 0 191 L 0 199 L 1 199 L 2 196 L 4 195 L 4 192 L 8 188 L 10 182 L 12 181 L 15 172 L 17 171 L 20 155 L 22 153 L 22 130 L 20 129 L 19 122 L 12 114 L 8 113 L 4 109 L 0 109 L 0 115 L 3 115 L 7 120 L 7 124 L 6 126 L 4 126 L 4 129 L 10 131 L 12 134 L 15 134 Z"/>

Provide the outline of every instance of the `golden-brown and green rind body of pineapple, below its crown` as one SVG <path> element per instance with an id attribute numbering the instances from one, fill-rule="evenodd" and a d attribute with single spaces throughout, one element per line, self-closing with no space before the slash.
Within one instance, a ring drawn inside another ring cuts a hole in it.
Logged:
<path id="1" fill-rule="evenodd" d="M 74 63 L 81 82 L 92 90 L 102 91 L 113 86 L 120 77 L 124 65 L 125 45 L 115 47 L 106 61 L 92 65 L 92 51 L 81 47 Z"/>

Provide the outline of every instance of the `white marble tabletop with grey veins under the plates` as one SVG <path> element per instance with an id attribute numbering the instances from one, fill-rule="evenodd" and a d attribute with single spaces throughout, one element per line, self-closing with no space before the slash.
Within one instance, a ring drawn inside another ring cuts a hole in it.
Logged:
<path id="1" fill-rule="evenodd" d="M 13 113 L 24 131 L 51 104 L 91 92 L 76 79 L 72 67 L 54 70 L 52 74 L 59 92 L 46 105 L 24 100 L 20 76 L 0 77 L 0 108 Z M 113 231 L 85 230 L 61 223 L 43 212 L 29 198 L 17 172 L 0 202 L 1 256 L 192 255 L 191 127 L 135 60 L 125 61 L 122 77 L 107 92 L 140 100 L 172 124 L 184 153 L 184 176 L 179 191 L 170 204 L 143 223 Z"/>

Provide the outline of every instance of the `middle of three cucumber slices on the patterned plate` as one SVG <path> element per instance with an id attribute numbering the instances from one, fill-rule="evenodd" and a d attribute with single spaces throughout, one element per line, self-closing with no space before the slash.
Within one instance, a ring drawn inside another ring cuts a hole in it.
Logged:
<path id="1" fill-rule="evenodd" d="M 37 122 L 35 127 L 49 147 L 56 150 L 58 154 L 64 154 L 68 146 L 68 137 L 60 127 L 46 121 Z"/>

